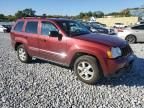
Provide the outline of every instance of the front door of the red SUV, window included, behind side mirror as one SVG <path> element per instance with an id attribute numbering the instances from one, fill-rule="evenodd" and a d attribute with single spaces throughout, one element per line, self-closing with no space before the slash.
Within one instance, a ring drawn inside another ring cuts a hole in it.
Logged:
<path id="1" fill-rule="evenodd" d="M 58 37 L 51 37 L 49 35 L 50 31 L 60 32 L 52 22 L 42 21 L 40 28 L 39 49 L 41 57 L 58 63 L 64 63 L 66 58 L 66 38 L 63 36 L 59 40 Z"/>

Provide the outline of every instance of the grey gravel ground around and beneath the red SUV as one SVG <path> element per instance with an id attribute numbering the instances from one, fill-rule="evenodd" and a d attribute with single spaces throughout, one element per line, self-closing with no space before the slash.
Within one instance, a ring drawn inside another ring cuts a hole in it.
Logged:
<path id="1" fill-rule="evenodd" d="M 64 67 L 21 63 L 9 34 L 0 33 L 0 108 L 144 108 L 144 44 L 131 46 L 132 71 L 92 86 Z"/>

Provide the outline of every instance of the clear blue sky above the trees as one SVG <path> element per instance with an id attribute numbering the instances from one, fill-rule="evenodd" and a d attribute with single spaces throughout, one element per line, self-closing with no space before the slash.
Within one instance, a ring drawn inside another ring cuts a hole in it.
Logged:
<path id="1" fill-rule="evenodd" d="M 37 15 L 78 15 L 88 11 L 110 13 L 142 4 L 144 0 L 1 0 L 0 13 L 14 15 L 25 8 L 32 8 Z"/>

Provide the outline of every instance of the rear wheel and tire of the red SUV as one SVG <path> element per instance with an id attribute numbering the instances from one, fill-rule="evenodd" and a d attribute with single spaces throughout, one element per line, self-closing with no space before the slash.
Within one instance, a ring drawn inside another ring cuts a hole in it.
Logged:
<path id="1" fill-rule="evenodd" d="M 32 61 L 32 57 L 27 53 L 24 45 L 19 45 L 17 48 L 18 59 L 23 63 L 29 63 Z"/>

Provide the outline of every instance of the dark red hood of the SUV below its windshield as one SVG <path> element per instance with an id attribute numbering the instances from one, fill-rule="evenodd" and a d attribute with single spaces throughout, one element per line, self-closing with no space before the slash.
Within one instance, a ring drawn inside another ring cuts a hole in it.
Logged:
<path id="1" fill-rule="evenodd" d="M 75 38 L 89 42 L 100 43 L 111 47 L 122 47 L 125 44 L 127 44 L 125 40 L 117 36 L 98 34 L 98 33 L 80 35 L 76 36 Z"/>

